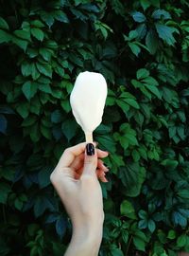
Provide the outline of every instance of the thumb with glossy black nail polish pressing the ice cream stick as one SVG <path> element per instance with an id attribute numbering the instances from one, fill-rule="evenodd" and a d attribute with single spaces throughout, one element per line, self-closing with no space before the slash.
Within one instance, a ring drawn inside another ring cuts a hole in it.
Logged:
<path id="1" fill-rule="evenodd" d="M 97 167 L 97 155 L 93 143 L 88 143 L 85 150 L 83 174 L 95 174 Z"/>

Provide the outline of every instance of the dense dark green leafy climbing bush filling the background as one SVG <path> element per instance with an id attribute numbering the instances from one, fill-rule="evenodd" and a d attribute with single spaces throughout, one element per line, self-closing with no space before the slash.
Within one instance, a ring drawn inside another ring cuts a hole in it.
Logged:
<path id="1" fill-rule="evenodd" d="M 110 151 L 99 255 L 189 251 L 187 0 L 2 0 L 0 255 L 62 255 L 70 219 L 50 185 L 84 140 L 77 74 L 109 85 L 94 139 Z"/>

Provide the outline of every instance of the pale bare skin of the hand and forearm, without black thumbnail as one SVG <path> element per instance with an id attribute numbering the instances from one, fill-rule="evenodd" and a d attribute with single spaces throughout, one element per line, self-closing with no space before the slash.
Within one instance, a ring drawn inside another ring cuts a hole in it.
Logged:
<path id="1" fill-rule="evenodd" d="M 50 176 L 73 225 L 64 256 L 95 256 L 102 240 L 104 211 L 98 178 L 107 182 L 108 169 L 100 158 L 108 152 L 94 149 L 94 155 L 87 155 L 85 148 L 86 143 L 80 143 L 66 149 Z"/>

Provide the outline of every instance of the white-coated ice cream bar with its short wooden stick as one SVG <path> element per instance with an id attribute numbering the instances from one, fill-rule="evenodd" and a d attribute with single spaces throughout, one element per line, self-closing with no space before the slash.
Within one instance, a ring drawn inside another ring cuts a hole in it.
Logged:
<path id="1" fill-rule="evenodd" d="M 107 83 L 101 74 L 85 71 L 77 76 L 70 103 L 87 142 L 93 142 L 93 132 L 102 121 L 106 98 Z"/>

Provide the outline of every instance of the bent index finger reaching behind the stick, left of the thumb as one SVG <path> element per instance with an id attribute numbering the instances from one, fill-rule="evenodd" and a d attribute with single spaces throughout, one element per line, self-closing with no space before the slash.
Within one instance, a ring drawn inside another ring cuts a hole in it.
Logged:
<path id="1" fill-rule="evenodd" d="M 60 168 L 69 167 L 74 159 L 85 151 L 86 142 L 77 144 L 76 146 L 67 148 L 60 157 L 58 165 Z M 96 144 L 94 143 L 94 146 Z"/>

